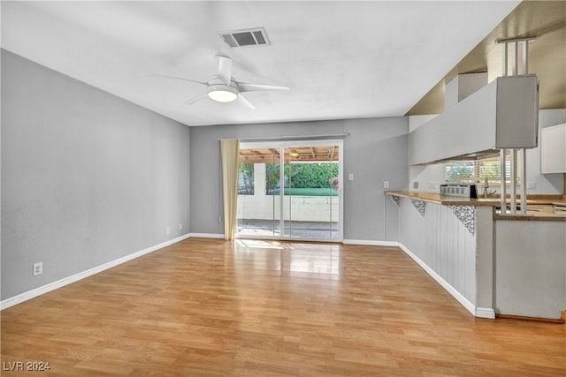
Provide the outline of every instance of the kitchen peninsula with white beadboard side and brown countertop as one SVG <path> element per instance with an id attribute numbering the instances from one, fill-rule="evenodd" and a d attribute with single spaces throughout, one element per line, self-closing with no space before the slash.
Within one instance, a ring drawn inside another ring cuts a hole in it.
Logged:
<path id="1" fill-rule="evenodd" d="M 528 196 L 527 215 L 501 215 L 499 199 L 385 194 L 399 210 L 402 250 L 470 313 L 560 320 L 566 215 L 553 208 L 566 207 L 563 195 Z"/>

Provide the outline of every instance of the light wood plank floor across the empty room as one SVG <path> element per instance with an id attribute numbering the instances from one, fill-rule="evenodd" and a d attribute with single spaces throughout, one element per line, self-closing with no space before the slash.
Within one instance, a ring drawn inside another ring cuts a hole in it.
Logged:
<path id="1" fill-rule="evenodd" d="M 566 325 L 475 319 L 395 247 L 189 238 L 1 314 L 3 369 L 51 368 L 3 376 L 566 375 Z"/>

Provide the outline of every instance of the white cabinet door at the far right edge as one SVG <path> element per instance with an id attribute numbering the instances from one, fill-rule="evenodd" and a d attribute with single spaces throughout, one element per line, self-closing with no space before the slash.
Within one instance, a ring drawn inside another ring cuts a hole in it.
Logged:
<path id="1" fill-rule="evenodd" d="M 566 124 L 543 128 L 540 138 L 540 172 L 566 172 Z"/>

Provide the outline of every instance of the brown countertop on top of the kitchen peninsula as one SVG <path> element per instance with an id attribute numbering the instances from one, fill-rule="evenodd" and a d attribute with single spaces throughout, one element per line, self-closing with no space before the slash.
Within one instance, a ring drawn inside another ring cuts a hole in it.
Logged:
<path id="1" fill-rule="evenodd" d="M 386 191 L 386 195 L 398 196 L 413 200 L 423 200 L 442 206 L 472 206 L 472 207 L 493 207 L 493 218 L 496 220 L 521 220 L 521 221 L 566 221 L 566 215 L 529 213 L 527 215 L 501 215 L 495 214 L 495 207 L 501 205 L 499 198 L 460 198 L 455 196 L 440 195 L 435 192 L 412 192 L 412 191 Z M 509 203 L 510 200 L 508 199 Z M 520 203 L 520 201 L 517 201 Z M 559 205 L 566 206 L 565 195 L 528 195 L 527 205 Z"/>

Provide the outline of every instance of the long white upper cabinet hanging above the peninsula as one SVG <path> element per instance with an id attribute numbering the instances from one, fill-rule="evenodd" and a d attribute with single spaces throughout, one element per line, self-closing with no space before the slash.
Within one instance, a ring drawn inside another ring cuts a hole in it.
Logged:
<path id="1" fill-rule="evenodd" d="M 538 146 L 539 83 L 536 75 L 493 80 L 409 133 L 409 164 Z"/>

